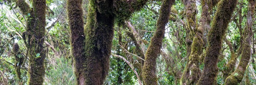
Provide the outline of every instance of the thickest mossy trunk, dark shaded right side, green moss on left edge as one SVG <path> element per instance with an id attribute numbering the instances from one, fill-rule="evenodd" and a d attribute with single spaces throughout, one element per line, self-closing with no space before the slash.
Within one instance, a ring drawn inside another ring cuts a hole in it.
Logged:
<path id="1" fill-rule="evenodd" d="M 86 82 L 85 85 L 102 85 L 109 69 L 114 16 L 112 0 L 89 1 L 85 28 Z"/>

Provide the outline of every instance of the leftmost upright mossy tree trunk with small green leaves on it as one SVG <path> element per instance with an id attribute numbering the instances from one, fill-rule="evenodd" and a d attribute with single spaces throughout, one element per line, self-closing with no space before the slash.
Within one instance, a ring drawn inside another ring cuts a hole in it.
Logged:
<path id="1" fill-rule="evenodd" d="M 46 0 L 32 0 L 32 7 L 24 0 L 16 1 L 23 15 L 28 15 L 26 37 L 24 42 L 27 42 L 29 68 L 28 68 L 28 84 L 29 85 L 42 85 L 44 83 L 44 38 L 45 38 L 45 13 L 46 13 Z M 28 14 L 29 13 L 29 14 Z M 36 54 L 40 54 L 37 57 Z"/>

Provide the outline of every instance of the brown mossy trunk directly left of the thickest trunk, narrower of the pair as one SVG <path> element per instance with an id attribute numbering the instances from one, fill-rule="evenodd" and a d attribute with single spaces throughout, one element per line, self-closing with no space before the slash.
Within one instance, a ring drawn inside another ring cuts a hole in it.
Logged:
<path id="1" fill-rule="evenodd" d="M 84 50 L 84 20 L 82 11 L 82 0 L 68 0 L 67 1 L 68 11 L 68 24 L 71 32 L 71 53 L 74 60 L 75 75 L 77 83 L 84 84 L 85 82 L 85 70 L 84 63 L 85 50 Z"/>

